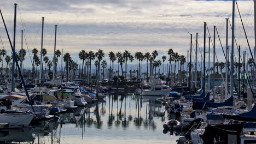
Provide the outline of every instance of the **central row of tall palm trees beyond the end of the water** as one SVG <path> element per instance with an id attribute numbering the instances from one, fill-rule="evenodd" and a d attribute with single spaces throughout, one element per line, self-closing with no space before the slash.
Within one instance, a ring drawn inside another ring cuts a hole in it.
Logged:
<path id="1" fill-rule="evenodd" d="M 99 52 L 99 50 L 98 50 Z M 94 53 L 92 51 L 86 52 L 85 50 L 82 50 L 78 53 L 79 58 L 82 60 L 82 73 L 79 74 L 79 77 L 85 80 L 91 81 L 91 62 L 96 61 L 96 75 L 97 76 L 102 76 L 102 79 L 104 79 L 104 72 L 103 70 L 107 68 L 107 62 L 102 61 L 103 56 L 98 57 L 97 53 Z M 101 53 L 104 53 L 102 50 L 100 51 Z M 110 51 L 108 53 L 108 58 L 110 60 L 109 64 L 109 71 L 108 71 L 108 79 L 112 80 L 114 79 L 114 62 L 117 61 L 118 64 L 118 70 L 117 70 L 117 77 L 120 76 L 119 70 L 121 68 L 121 76 L 124 78 L 130 77 L 130 79 L 133 79 L 132 77 L 132 62 L 135 61 L 136 59 L 136 79 L 141 80 L 142 79 L 142 62 L 146 61 L 147 62 L 147 79 L 150 75 L 154 75 L 156 77 L 156 68 L 158 68 L 158 77 L 160 77 L 160 66 L 163 65 L 163 68 L 165 68 L 165 61 L 167 59 L 166 56 L 162 56 L 162 61 L 160 59 L 156 60 L 157 56 L 159 55 L 158 51 L 154 50 L 152 53 L 146 52 L 135 52 L 134 56 L 131 54 L 130 51 L 125 50 L 124 52 L 116 52 L 114 53 L 113 51 Z M 186 62 L 185 56 L 183 55 L 178 55 L 177 52 L 174 52 L 172 49 L 168 50 L 168 55 L 169 55 L 169 63 L 171 65 L 172 62 L 174 62 L 174 71 L 176 71 L 176 63 L 180 62 L 181 67 L 182 65 Z M 101 63 L 102 61 L 102 63 Z M 101 63 L 101 64 L 100 64 Z M 130 76 L 127 75 L 127 65 L 130 63 Z M 163 64 L 162 64 L 163 63 Z M 149 73 L 149 65 L 151 66 L 151 71 Z M 100 67 L 101 66 L 101 67 Z M 125 68 L 124 68 L 125 67 Z M 124 70 L 125 69 L 125 70 Z M 102 75 L 98 75 L 101 73 L 102 70 Z M 155 72 L 153 73 L 153 70 Z M 164 70 L 165 71 L 165 70 Z M 163 74 L 165 77 L 165 73 Z M 170 76 L 170 66 L 169 66 L 169 71 L 168 71 L 168 77 Z M 174 74 L 174 79 L 175 79 L 175 74 Z"/>

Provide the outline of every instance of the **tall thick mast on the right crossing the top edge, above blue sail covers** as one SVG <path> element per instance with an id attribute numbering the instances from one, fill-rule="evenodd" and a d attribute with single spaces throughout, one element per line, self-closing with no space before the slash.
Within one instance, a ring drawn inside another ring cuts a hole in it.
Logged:
<path id="1" fill-rule="evenodd" d="M 231 45 L 231 73 L 230 73 L 230 97 L 233 97 L 233 71 L 234 71 L 234 37 L 235 37 L 235 0 L 233 0 L 233 5 L 232 5 L 232 45 Z"/>

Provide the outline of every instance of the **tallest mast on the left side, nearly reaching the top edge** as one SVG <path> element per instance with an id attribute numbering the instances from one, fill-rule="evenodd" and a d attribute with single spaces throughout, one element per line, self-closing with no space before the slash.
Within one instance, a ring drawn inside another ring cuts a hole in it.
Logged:
<path id="1" fill-rule="evenodd" d="M 15 51 L 16 42 L 16 14 L 17 14 L 17 4 L 14 4 L 14 28 L 13 28 L 13 50 Z M 15 52 L 13 52 L 13 65 L 11 66 L 11 92 L 15 92 L 15 82 L 14 82 L 14 68 L 15 68 Z"/>

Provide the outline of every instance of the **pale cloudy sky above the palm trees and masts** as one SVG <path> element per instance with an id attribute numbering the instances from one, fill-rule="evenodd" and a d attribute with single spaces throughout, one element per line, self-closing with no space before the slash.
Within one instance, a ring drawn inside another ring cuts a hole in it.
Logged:
<path id="1" fill-rule="evenodd" d="M 36 47 L 40 51 L 42 16 L 44 16 L 43 47 L 48 50 L 47 56 L 53 56 L 54 27 L 58 25 L 56 49 L 63 49 L 63 53 L 71 53 L 74 61 L 78 59 L 78 52 L 83 49 L 86 51 L 102 49 L 107 61 L 109 51 L 124 50 L 129 50 L 131 53 L 158 50 L 159 57 L 156 59 L 161 59 L 161 56 L 167 55 L 167 50 L 172 48 L 174 52 L 187 57 L 190 33 L 193 34 L 193 46 L 195 46 L 196 32 L 199 33 L 199 46 L 203 46 L 203 22 L 207 22 L 211 36 L 213 36 L 213 26 L 217 26 L 225 49 L 225 18 L 229 17 L 231 22 L 232 13 L 232 1 L 227 0 L 1 0 L 0 9 L 11 39 L 13 39 L 14 3 L 18 3 L 16 50 L 21 49 L 21 29 L 25 29 L 24 49 L 32 51 Z M 249 43 L 254 47 L 253 1 L 237 1 L 237 3 L 246 26 Z M 237 43 L 241 45 L 242 51 L 248 51 L 237 9 L 235 23 Z M 0 20 L 0 35 L 4 49 L 10 54 L 10 45 L 2 20 Z M 229 27 L 228 45 L 231 45 L 230 36 Z M 206 37 L 209 37 L 208 32 Z M 208 39 L 206 45 L 208 50 Z M 212 48 L 212 45 L 210 47 Z M 0 49 L 3 49 L 2 45 Z M 219 61 L 224 61 L 219 41 L 216 52 Z M 237 55 L 236 47 L 235 53 Z M 211 61 L 212 59 L 211 57 Z M 79 59 L 78 62 L 80 63 Z M 25 67 L 31 65 L 28 53 L 25 63 Z"/>

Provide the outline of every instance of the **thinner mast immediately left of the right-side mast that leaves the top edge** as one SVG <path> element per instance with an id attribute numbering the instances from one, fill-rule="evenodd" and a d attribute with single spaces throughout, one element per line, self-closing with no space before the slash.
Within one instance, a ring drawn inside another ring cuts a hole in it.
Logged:
<path id="1" fill-rule="evenodd" d="M 225 98 L 228 97 L 228 36 L 229 36 L 229 19 L 226 18 Z"/>

